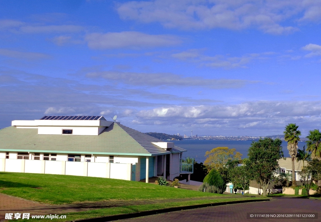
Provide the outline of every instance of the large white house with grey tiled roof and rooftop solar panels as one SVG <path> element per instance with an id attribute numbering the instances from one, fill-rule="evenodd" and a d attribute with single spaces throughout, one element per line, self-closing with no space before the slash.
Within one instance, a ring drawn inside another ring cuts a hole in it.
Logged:
<path id="1" fill-rule="evenodd" d="M 185 149 L 103 116 L 14 120 L 0 130 L 0 141 L 0 171 L 146 182 L 153 176 L 173 180 L 192 173 L 182 170 Z"/>

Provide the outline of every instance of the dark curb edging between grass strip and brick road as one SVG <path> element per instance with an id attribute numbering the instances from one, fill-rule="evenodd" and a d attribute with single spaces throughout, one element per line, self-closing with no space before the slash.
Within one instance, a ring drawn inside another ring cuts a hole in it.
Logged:
<path id="1" fill-rule="evenodd" d="M 137 213 L 111 215 L 106 217 L 79 219 L 79 220 L 73 220 L 73 222 L 107 222 L 107 221 L 113 221 L 113 220 L 122 220 L 122 219 L 134 218 L 134 217 L 149 216 L 153 214 L 168 213 L 168 212 L 180 211 L 180 210 L 189 210 L 189 209 L 196 209 L 196 208 L 221 206 L 221 205 L 227 205 L 227 204 L 260 202 L 260 201 L 269 201 L 269 200 L 270 199 L 250 199 L 250 200 L 237 200 L 237 201 L 211 203 L 211 204 L 198 204 L 198 205 L 191 205 L 191 206 L 184 206 L 184 207 L 164 208 L 159 210 L 147 210 L 147 211 L 142 211 Z"/>

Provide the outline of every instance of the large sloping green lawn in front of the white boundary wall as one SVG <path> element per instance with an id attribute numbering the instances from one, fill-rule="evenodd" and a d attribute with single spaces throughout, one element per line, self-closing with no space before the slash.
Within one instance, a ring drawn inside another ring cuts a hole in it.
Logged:
<path id="1" fill-rule="evenodd" d="M 223 196 L 143 182 L 68 175 L 0 172 L 0 192 L 48 204 L 108 199 L 171 199 Z"/>

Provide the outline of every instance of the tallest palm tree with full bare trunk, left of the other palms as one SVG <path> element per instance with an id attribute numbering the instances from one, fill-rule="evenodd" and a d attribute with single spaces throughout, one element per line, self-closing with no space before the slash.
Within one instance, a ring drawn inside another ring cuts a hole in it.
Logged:
<path id="1" fill-rule="evenodd" d="M 284 130 L 284 140 L 288 142 L 288 150 L 292 160 L 292 185 L 296 186 L 297 181 L 295 178 L 294 160 L 297 156 L 298 143 L 300 141 L 301 131 L 298 130 L 295 123 L 289 123 L 285 126 Z"/>

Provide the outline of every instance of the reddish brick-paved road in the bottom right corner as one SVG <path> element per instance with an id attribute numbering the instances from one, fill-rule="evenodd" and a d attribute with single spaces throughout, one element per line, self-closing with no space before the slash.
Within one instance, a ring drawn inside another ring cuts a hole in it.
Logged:
<path id="1" fill-rule="evenodd" d="M 247 219 L 247 212 L 251 213 L 319 213 L 318 219 Z M 279 198 L 271 201 L 230 204 L 217 207 L 182 210 L 165 214 L 137 217 L 123 220 L 123 222 L 244 222 L 244 221 L 321 221 L 321 200 Z"/>

